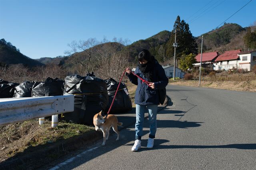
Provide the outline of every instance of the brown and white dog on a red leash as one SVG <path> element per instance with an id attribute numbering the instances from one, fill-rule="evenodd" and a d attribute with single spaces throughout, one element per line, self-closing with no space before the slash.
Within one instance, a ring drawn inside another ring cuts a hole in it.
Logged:
<path id="1" fill-rule="evenodd" d="M 103 143 L 102 146 L 105 145 L 106 140 L 108 140 L 109 137 L 109 130 L 112 127 L 114 132 L 117 133 L 116 141 L 119 140 L 119 131 L 117 129 L 117 126 L 122 126 L 123 123 L 118 122 L 118 119 L 114 115 L 108 115 L 106 119 L 102 116 L 102 111 L 100 113 L 97 113 L 93 117 L 93 124 L 95 126 L 96 131 L 102 131 L 103 132 Z"/>

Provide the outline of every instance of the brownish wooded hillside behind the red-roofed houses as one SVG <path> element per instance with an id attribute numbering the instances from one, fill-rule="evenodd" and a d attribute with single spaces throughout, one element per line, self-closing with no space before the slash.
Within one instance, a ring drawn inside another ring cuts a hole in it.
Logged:
<path id="1" fill-rule="evenodd" d="M 236 23 L 227 23 L 222 27 L 202 34 L 203 51 L 228 51 L 234 49 L 244 49 L 243 37 L 246 34 L 246 28 Z M 201 50 L 202 35 L 196 37 L 198 51 Z"/>

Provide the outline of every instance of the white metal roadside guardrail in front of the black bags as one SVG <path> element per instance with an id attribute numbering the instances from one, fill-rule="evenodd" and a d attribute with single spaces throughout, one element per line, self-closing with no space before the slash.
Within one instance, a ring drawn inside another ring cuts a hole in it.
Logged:
<path id="1" fill-rule="evenodd" d="M 74 95 L 1 98 L 0 126 L 74 111 Z M 55 118 L 56 119 L 56 116 Z M 53 124 L 56 122 L 52 121 Z M 55 126 L 52 126 L 55 127 Z"/>

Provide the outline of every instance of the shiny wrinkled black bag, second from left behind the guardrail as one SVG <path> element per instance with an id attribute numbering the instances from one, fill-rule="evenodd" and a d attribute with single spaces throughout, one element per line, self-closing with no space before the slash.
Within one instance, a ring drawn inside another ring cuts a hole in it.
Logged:
<path id="1" fill-rule="evenodd" d="M 23 82 L 14 88 L 13 98 L 31 97 L 32 86 L 35 82 Z"/>

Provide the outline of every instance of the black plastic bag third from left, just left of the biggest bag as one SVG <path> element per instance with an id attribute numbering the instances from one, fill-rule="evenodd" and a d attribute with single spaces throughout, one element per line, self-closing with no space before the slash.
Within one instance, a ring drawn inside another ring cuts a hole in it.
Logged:
<path id="1" fill-rule="evenodd" d="M 64 81 L 58 78 L 48 77 L 45 82 L 36 82 L 32 87 L 32 97 L 62 96 L 62 85 Z"/>

